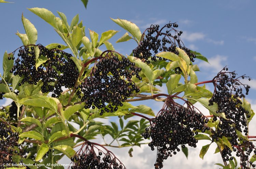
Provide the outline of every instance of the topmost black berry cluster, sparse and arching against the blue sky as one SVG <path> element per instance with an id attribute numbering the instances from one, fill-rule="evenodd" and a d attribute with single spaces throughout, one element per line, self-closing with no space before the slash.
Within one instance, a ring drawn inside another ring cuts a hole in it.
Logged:
<path id="1" fill-rule="evenodd" d="M 159 25 L 151 25 L 143 33 L 139 46 L 133 50 L 134 57 L 145 59 L 145 62 L 150 63 L 150 60 L 156 61 L 157 58 L 162 60 L 161 57 L 156 56 L 158 52 L 172 52 L 179 55 L 179 51 L 176 48 L 184 50 L 189 56 L 190 60 L 194 62 L 195 54 L 190 52 L 190 49 L 186 48 L 180 39 L 182 31 L 177 31 L 178 27 L 176 23 L 168 23 L 162 28 Z M 146 34 L 147 31 L 147 34 Z M 149 59 L 150 58 L 150 59 Z M 167 60 L 163 58 L 163 60 Z"/>

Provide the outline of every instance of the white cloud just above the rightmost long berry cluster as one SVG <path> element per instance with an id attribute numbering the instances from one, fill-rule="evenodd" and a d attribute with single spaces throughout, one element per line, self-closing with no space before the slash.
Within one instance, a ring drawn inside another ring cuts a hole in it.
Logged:
<path id="1" fill-rule="evenodd" d="M 223 62 L 225 62 L 226 60 L 227 56 L 216 55 L 208 59 L 210 64 L 202 61 L 198 64 L 198 66 L 199 68 L 207 69 L 210 72 L 217 73 L 225 67 L 225 65 L 223 65 Z"/>

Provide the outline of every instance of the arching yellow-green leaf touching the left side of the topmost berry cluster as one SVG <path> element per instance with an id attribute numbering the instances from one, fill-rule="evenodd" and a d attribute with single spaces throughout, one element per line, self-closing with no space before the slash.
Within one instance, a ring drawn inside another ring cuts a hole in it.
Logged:
<path id="1" fill-rule="evenodd" d="M 126 31 L 128 31 L 134 38 L 136 38 L 138 43 L 140 42 L 141 32 L 136 24 L 124 19 L 111 19 L 116 24 L 118 24 L 119 26 L 123 27 Z"/>

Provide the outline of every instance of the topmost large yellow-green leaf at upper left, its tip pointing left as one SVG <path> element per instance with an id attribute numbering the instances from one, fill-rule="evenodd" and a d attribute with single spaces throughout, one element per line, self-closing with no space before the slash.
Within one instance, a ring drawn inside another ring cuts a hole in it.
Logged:
<path id="1" fill-rule="evenodd" d="M 58 28 L 57 19 L 51 11 L 45 8 L 38 8 L 38 7 L 29 8 L 28 10 L 34 13 L 35 15 L 39 16 L 43 20 L 45 20 L 47 23 L 49 23 L 56 29 Z"/>

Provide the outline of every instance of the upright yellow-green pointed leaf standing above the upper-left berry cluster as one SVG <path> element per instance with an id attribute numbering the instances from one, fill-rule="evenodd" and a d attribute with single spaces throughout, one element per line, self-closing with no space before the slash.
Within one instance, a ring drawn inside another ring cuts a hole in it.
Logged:
<path id="1" fill-rule="evenodd" d="M 27 34 L 29 44 L 35 44 L 37 41 L 37 29 L 35 29 L 35 26 L 28 19 L 26 19 L 23 14 L 22 23 Z"/>

